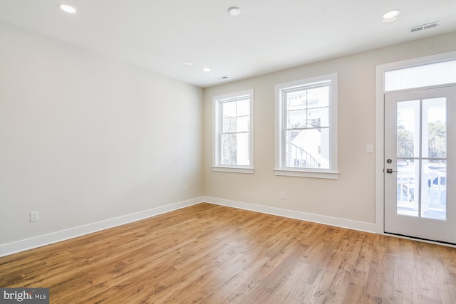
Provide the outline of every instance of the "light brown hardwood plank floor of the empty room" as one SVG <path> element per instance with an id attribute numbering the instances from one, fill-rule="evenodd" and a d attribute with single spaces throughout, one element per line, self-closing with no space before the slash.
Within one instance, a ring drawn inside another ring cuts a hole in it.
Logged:
<path id="1" fill-rule="evenodd" d="M 0 258 L 51 303 L 456 303 L 456 248 L 198 204 Z"/>

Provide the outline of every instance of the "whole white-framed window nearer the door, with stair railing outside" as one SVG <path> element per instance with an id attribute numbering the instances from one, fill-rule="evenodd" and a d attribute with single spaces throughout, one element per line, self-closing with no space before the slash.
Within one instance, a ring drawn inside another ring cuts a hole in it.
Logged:
<path id="1" fill-rule="evenodd" d="M 276 85 L 276 175 L 337 179 L 337 74 Z"/>

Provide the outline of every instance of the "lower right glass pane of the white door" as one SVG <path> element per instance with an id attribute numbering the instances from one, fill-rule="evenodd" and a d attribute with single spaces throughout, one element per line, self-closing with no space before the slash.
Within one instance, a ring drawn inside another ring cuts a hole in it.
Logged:
<path id="1" fill-rule="evenodd" d="M 447 162 L 423 159 L 421 216 L 447 219 Z"/>

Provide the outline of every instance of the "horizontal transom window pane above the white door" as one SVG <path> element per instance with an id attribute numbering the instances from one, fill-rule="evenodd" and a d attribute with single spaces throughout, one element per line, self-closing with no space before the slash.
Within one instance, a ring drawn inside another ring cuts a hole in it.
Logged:
<path id="1" fill-rule="evenodd" d="M 456 83 L 456 61 L 389 70 L 385 72 L 385 91 Z"/>

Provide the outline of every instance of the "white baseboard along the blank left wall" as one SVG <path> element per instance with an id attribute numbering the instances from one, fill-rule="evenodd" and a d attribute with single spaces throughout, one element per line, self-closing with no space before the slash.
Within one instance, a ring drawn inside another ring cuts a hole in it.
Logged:
<path id="1" fill-rule="evenodd" d="M 145 211 L 136 212 L 134 214 L 127 214 L 125 216 L 118 216 L 113 219 L 106 219 L 104 221 L 98 221 L 96 223 L 87 224 L 83 226 L 74 227 L 62 231 L 56 231 L 51 234 L 44 234 L 42 236 L 35 236 L 30 239 L 24 239 L 21 241 L 15 241 L 13 243 L 0 244 L 0 257 L 8 256 L 12 253 L 26 251 L 28 249 L 45 246 L 51 243 L 57 243 L 58 241 L 65 241 L 68 239 L 76 238 L 77 236 L 83 236 L 91 234 L 96 231 L 120 226 L 123 224 L 131 223 L 132 221 L 139 221 L 140 219 L 146 219 L 150 216 L 156 216 L 158 214 L 164 214 L 177 209 L 182 209 L 187 206 L 192 206 L 202 202 L 202 197 L 195 199 L 189 199 L 187 201 L 180 201 L 175 204 L 168 204 L 166 206 L 160 206 Z"/>

